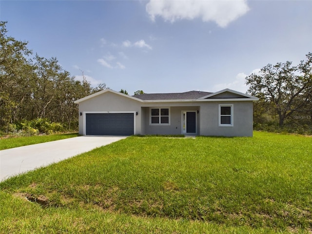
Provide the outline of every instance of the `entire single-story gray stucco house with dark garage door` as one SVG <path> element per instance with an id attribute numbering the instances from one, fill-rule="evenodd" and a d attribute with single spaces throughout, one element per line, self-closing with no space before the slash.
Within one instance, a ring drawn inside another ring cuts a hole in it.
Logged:
<path id="1" fill-rule="evenodd" d="M 253 136 L 253 96 L 215 93 L 124 95 L 111 89 L 81 98 L 81 135 Z"/>

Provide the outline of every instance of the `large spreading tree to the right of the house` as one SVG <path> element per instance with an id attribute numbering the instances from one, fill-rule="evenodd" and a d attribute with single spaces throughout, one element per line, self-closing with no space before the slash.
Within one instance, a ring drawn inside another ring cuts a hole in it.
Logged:
<path id="1" fill-rule="evenodd" d="M 309 113 L 312 99 L 312 53 L 306 55 L 299 65 L 292 62 L 268 64 L 259 74 L 246 77 L 248 93 L 268 103 L 279 118 L 282 127 L 287 117 L 294 113 Z M 310 104 L 308 104 L 310 103 Z"/>

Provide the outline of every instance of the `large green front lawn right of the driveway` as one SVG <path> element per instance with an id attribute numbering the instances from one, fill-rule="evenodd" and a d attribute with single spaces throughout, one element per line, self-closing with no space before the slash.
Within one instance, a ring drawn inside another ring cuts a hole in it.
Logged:
<path id="1" fill-rule="evenodd" d="M 309 233 L 311 155 L 261 132 L 129 137 L 0 183 L 0 233 Z"/>

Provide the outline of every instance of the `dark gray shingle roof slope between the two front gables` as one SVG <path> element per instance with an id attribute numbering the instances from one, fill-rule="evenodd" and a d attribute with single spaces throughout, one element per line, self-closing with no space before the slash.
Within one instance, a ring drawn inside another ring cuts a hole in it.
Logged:
<path id="1" fill-rule="evenodd" d="M 189 91 L 185 93 L 167 93 L 167 94 L 139 94 L 132 97 L 141 100 L 190 100 L 198 99 L 213 93 L 202 91 Z"/>

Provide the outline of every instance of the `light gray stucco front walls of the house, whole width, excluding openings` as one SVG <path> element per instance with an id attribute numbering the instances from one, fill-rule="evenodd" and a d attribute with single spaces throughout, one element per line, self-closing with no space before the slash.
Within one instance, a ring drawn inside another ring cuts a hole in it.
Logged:
<path id="1" fill-rule="evenodd" d="M 233 104 L 232 127 L 219 126 L 219 104 Z M 150 125 L 150 107 L 169 107 L 170 125 Z M 178 135 L 182 134 L 182 111 L 195 111 L 197 135 L 253 136 L 253 101 L 140 102 L 113 92 L 79 102 L 79 134 L 84 134 L 86 113 L 137 112 L 135 134 Z"/>

